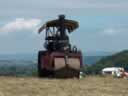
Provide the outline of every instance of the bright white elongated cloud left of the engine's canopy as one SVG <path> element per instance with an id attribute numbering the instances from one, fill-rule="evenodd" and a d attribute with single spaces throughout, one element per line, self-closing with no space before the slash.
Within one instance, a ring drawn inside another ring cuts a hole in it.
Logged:
<path id="1" fill-rule="evenodd" d="M 16 18 L 14 21 L 8 22 L 0 28 L 0 33 L 9 33 L 22 30 L 35 30 L 41 23 L 40 19 L 24 19 Z"/>

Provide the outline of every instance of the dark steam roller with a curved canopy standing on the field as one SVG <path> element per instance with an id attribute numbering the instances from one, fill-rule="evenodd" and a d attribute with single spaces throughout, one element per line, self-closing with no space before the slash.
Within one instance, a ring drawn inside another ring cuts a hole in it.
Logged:
<path id="1" fill-rule="evenodd" d="M 68 37 L 68 33 L 78 27 L 78 22 L 60 15 L 57 20 L 48 21 L 39 29 L 39 33 L 46 31 L 46 50 L 38 53 L 39 77 L 79 78 L 82 54 L 71 46 Z"/>

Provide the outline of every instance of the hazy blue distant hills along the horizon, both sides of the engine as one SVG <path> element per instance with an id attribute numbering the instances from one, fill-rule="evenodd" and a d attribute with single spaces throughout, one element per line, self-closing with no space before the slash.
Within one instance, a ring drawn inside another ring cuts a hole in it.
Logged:
<path id="1" fill-rule="evenodd" d="M 92 65 L 99 61 L 103 56 L 108 56 L 111 52 L 83 52 L 84 64 Z M 17 53 L 17 54 L 0 54 L 0 60 L 11 61 L 37 61 L 37 53 Z"/>

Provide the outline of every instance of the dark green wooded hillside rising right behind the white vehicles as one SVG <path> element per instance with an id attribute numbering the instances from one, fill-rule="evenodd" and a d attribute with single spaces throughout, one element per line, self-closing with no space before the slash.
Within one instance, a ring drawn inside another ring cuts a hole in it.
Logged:
<path id="1" fill-rule="evenodd" d="M 104 56 L 92 66 L 87 66 L 84 71 L 88 74 L 99 74 L 105 67 L 123 67 L 128 71 L 128 50 Z"/>

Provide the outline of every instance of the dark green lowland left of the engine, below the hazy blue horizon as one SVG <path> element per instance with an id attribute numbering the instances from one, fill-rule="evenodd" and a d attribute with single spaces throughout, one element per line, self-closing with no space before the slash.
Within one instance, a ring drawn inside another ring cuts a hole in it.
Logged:
<path id="1" fill-rule="evenodd" d="M 0 75 L 3 76 L 32 76 L 37 73 L 37 64 L 34 61 L 0 60 Z"/>

